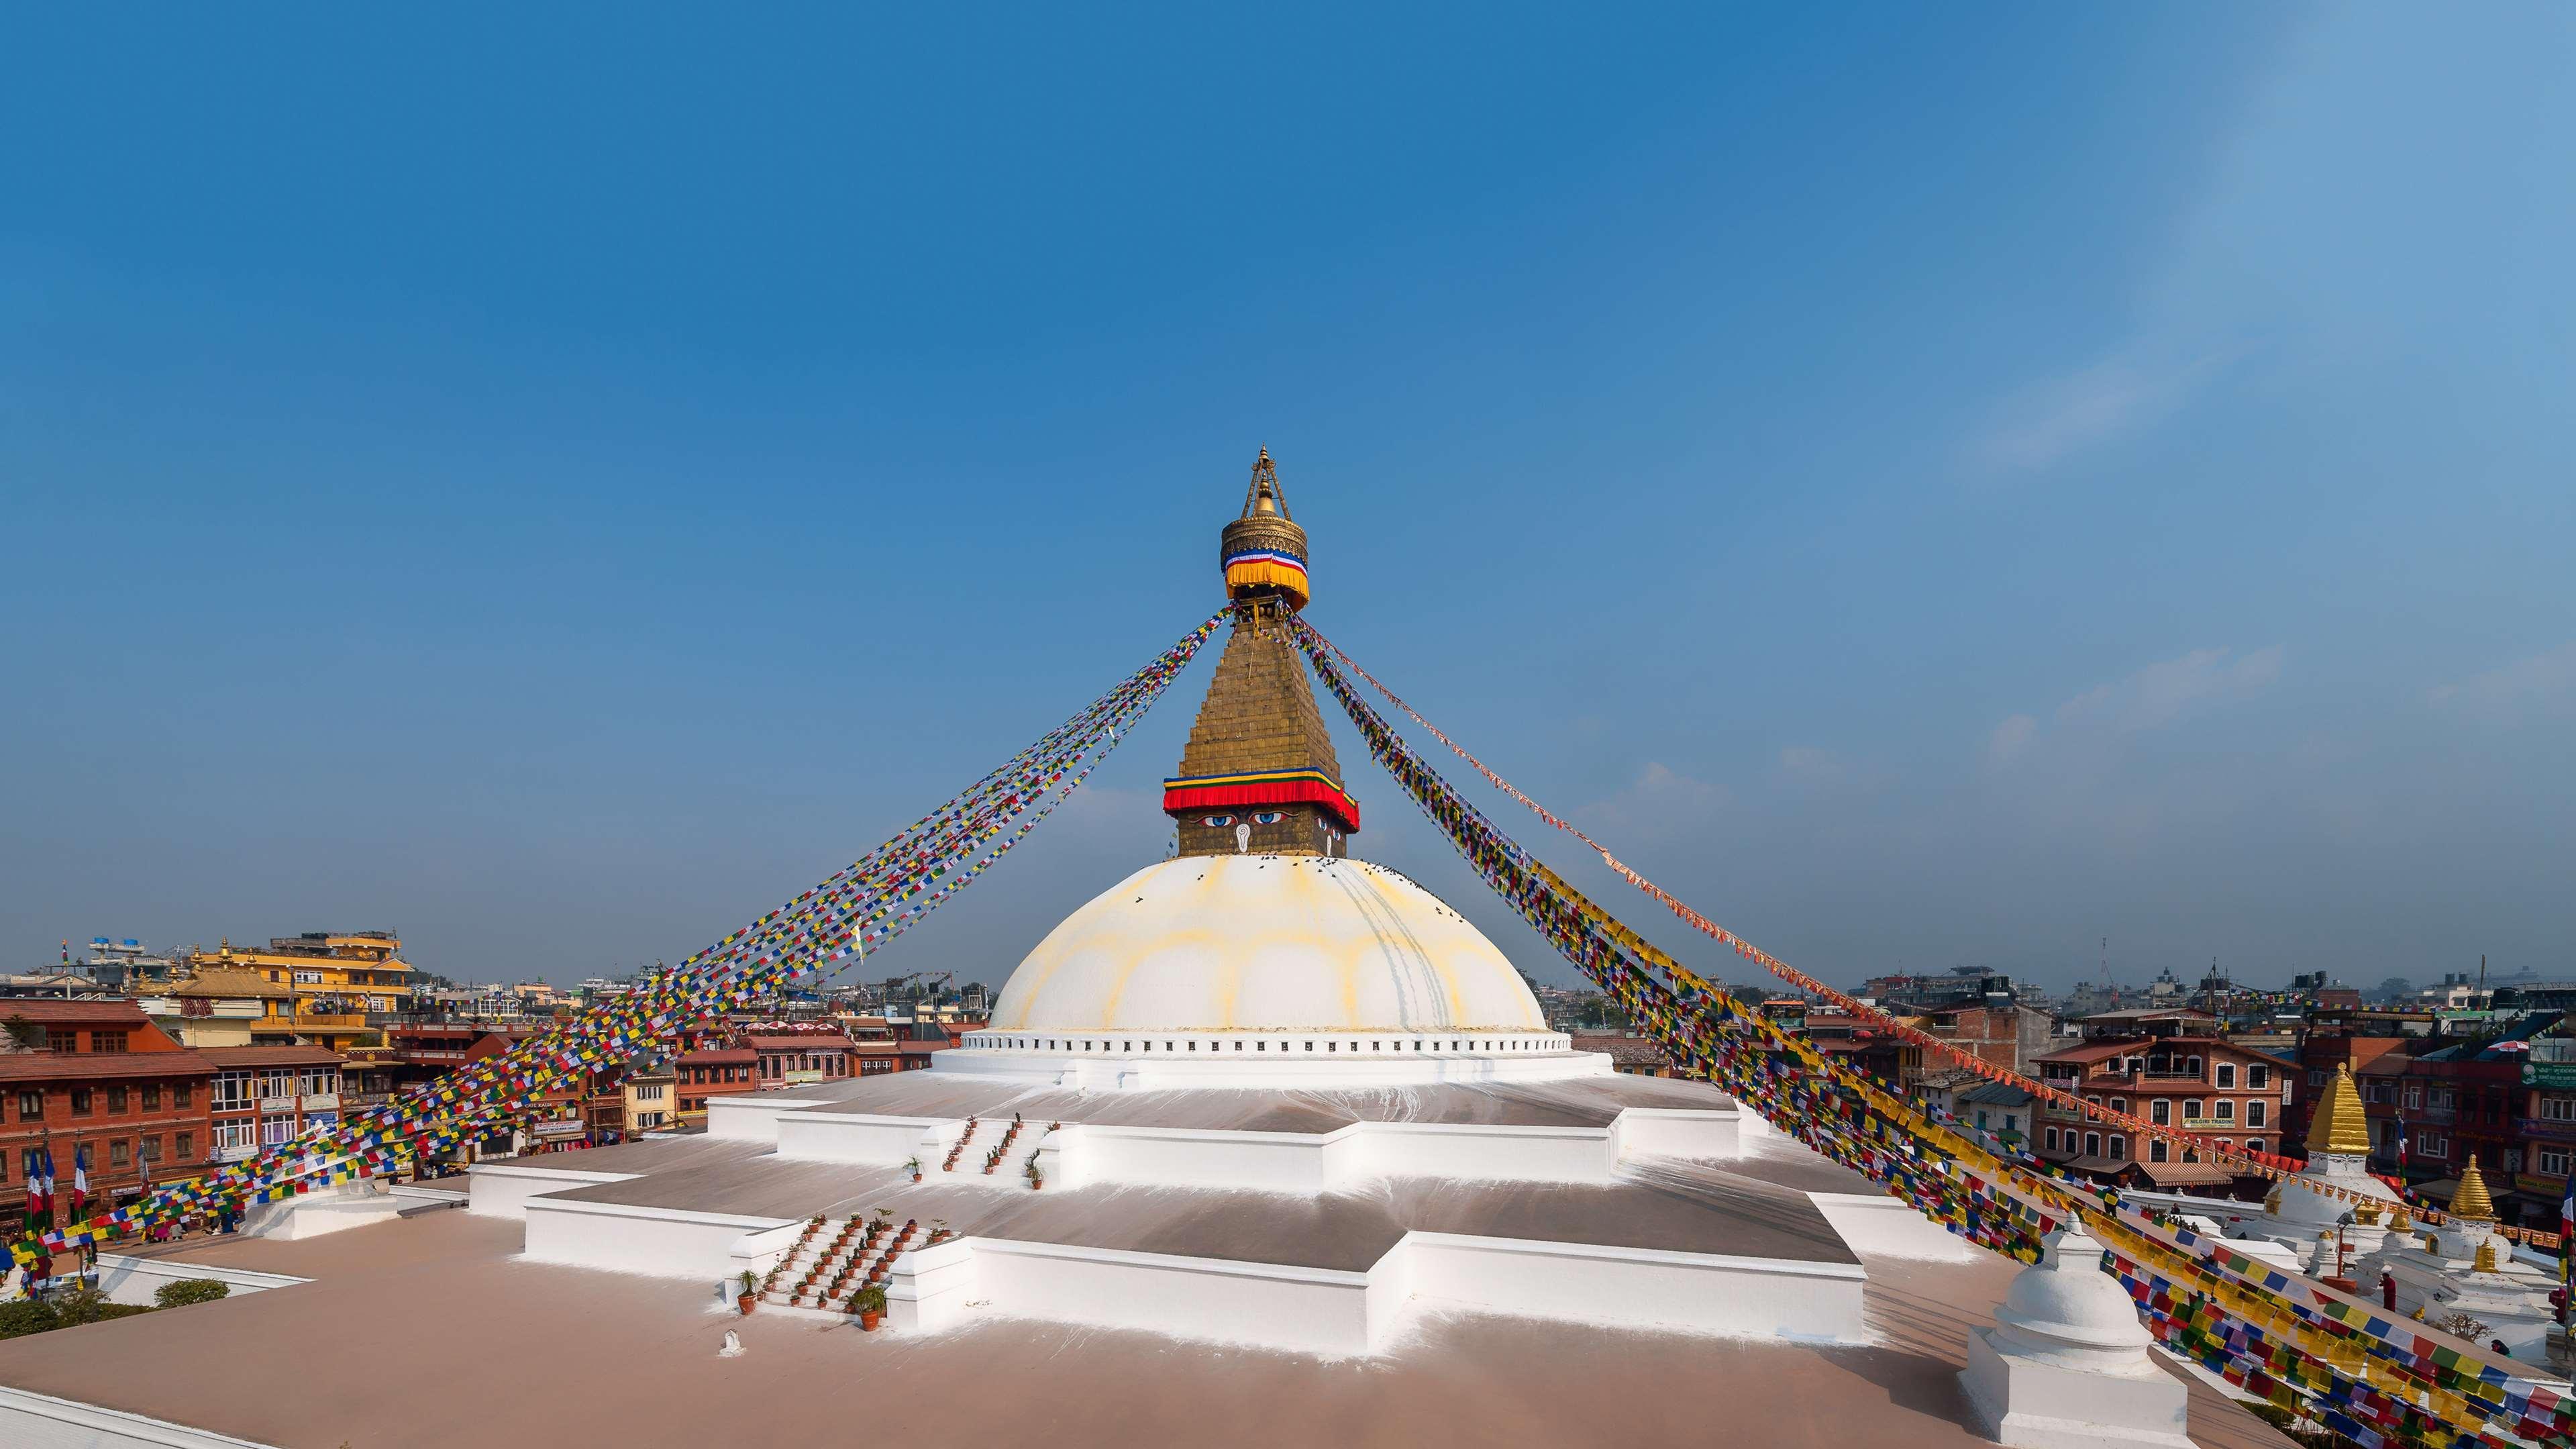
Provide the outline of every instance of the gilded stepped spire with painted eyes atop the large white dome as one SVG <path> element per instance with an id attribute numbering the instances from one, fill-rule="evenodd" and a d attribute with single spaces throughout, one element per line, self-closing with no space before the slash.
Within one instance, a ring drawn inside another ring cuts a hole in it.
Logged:
<path id="1" fill-rule="evenodd" d="M 1314 706 L 1288 621 L 1306 606 L 1306 529 L 1288 516 L 1270 451 L 1252 464 L 1244 511 L 1218 539 L 1234 634 L 1190 724 L 1162 810 L 1182 856 L 1342 856 L 1360 802 Z"/>

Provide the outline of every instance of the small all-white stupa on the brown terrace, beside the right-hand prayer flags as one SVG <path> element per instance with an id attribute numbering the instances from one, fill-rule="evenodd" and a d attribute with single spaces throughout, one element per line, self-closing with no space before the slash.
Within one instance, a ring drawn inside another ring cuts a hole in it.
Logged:
<path id="1" fill-rule="evenodd" d="M 1968 1330 L 1971 1421 L 2017 1449 L 2190 1449 L 2190 1395 L 2151 1343 L 2138 1305 L 2102 1271 L 2102 1245 L 2081 1227 L 2050 1232 L 1994 1328 Z"/>

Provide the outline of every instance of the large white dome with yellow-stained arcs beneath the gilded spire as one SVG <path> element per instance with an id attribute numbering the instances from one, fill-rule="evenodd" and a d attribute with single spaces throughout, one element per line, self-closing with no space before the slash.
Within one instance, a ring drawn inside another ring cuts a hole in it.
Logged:
<path id="1" fill-rule="evenodd" d="M 1546 1031 L 1512 962 L 1401 874 L 1182 856 L 1064 918 L 989 1031 Z"/>

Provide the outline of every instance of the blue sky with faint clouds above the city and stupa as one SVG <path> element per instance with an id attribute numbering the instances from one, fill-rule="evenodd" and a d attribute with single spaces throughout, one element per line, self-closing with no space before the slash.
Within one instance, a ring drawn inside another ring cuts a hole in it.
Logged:
<path id="1" fill-rule="evenodd" d="M 8 49 L 13 967 L 677 959 L 1203 616 L 1270 446 L 1327 634 L 1819 975 L 2576 975 L 2566 8 Z M 904 969 L 1157 859 L 1200 683 Z"/>

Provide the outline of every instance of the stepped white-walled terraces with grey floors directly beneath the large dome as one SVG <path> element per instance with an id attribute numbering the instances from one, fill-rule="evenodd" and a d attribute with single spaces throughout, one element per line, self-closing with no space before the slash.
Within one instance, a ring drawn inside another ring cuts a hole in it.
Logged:
<path id="1" fill-rule="evenodd" d="M 1857 1341 L 1847 1232 L 1965 1256 L 1803 1152 L 1790 1176 L 1826 1191 L 1767 1181 L 1765 1137 L 1723 1093 L 1654 1078 L 1087 1093 L 940 1070 L 479 1165 L 471 1209 L 523 1220 L 533 1261 L 708 1284 L 765 1271 L 817 1212 L 884 1209 L 958 1232 L 891 1266 L 894 1330 L 1018 1315 L 1319 1354 L 1378 1351 L 1414 1307 Z"/>

